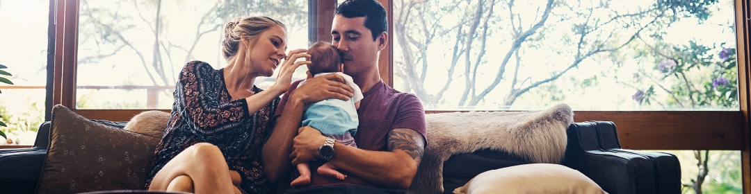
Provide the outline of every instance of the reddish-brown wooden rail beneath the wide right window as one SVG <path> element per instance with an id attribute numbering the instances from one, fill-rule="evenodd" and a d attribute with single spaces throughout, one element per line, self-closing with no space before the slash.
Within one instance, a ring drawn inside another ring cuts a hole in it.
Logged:
<path id="1" fill-rule="evenodd" d="M 427 114 L 451 111 L 427 111 Z M 623 148 L 634 150 L 741 150 L 740 111 L 575 111 L 575 122 L 613 121 Z"/>

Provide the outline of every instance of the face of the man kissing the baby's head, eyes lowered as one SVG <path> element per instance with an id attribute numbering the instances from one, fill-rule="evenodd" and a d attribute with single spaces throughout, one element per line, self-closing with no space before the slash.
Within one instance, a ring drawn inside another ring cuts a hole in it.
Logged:
<path id="1" fill-rule="evenodd" d="M 365 27 L 365 17 L 334 16 L 331 37 L 333 46 L 342 53 L 344 73 L 356 76 L 378 66 L 378 53 L 385 47 L 385 37 L 373 40 L 370 29 Z"/>

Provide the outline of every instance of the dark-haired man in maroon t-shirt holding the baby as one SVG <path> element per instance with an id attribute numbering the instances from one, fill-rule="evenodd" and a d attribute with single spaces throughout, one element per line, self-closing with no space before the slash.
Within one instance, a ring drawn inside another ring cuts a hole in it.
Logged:
<path id="1" fill-rule="evenodd" d="M 278 182 L 289 176 L 292 165 L 316 160 L 311 169 L 333 163 L 347 178 L 324 178 L 312 170 L 307 187 L 286 193 L 404 193 L 412 184 L 425 148 L 424 111 L 414 94 L 396 91 L 381 79 L 378 58 L 388 41 L 387 29 L 386 10 L 378 1 L 348 0 L 336 8 L 332 44 L 342 54 L 344 73 L 363 92 L 354 135 L 357 148 L 300 128 L 306 103 L 351 97 L 341 76 L 319 76 L 300 88 L 299 81 L 294 82 L 279 103 L 276 127 L 264 145 L 264 172 Z"/>

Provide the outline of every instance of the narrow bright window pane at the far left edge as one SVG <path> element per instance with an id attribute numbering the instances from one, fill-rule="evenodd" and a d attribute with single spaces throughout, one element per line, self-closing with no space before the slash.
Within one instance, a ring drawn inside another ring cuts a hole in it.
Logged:
<path id="1" fill-rule="evenodd" d="M 14 83 L 0 83 L 0 130 L 13 141 L 0 145 L 34 144 L 44 122 L 49 10 L 49 0 L 0 2 L 0 64 L 13 75 L 0 76 Z"/>

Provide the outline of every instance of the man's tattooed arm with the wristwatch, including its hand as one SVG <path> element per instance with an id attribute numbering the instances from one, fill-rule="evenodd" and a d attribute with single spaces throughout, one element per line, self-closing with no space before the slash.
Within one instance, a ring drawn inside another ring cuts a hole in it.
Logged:
<path id="1" fill-rule="evenodd" d="M 312 160 L 326 137 L 318 130 L 306 129 L 294 139 L 293 164 Z M 394 129 L 388 135 L 389 151 L 367 151 L 334 144 L 329 163 L 375 184 L 406 189 L 418 171 L 424 150 L 424 137 L 415 130 Z"/>

